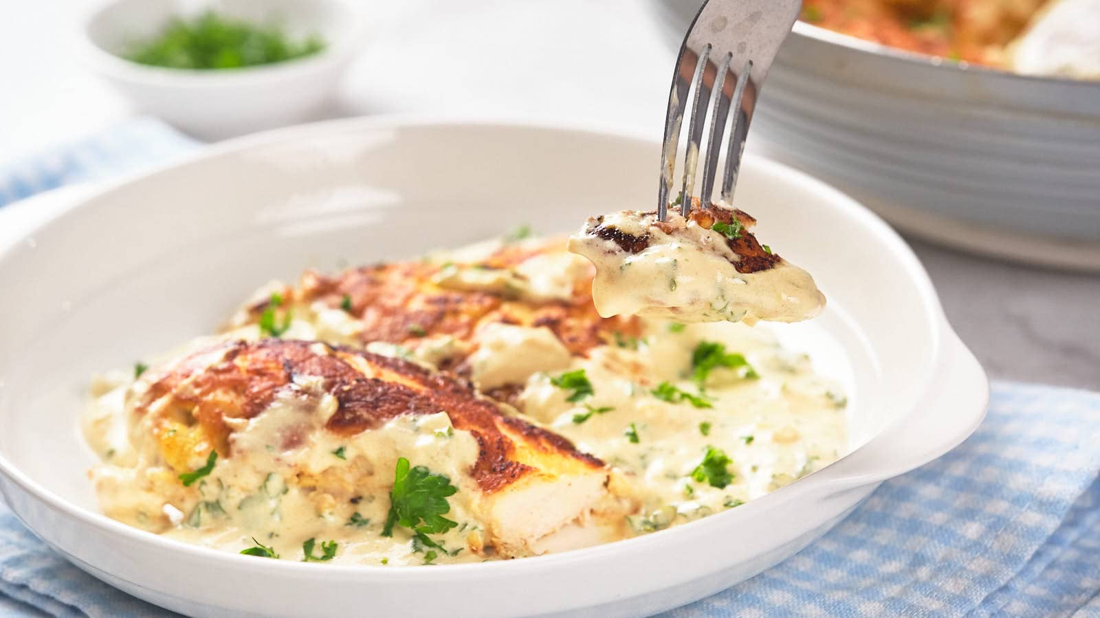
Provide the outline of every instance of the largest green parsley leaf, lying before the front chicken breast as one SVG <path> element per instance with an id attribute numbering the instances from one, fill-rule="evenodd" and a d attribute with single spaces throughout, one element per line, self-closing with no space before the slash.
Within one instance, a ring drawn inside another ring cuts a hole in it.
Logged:
<path id="1" fill-rule="evenodd" d="M 443 517 L 451 510 L 447 498 L 458 490 L 446 475 L 432 474 L 422 465 L 410 468 L 407 459 L 398 459 L 394 488 L 389 492 L 389 514 L 386 515 L 382 536 L 393 537 L 394 526 L 400 525 L 416 532 L 425 544 L 438 548 L 427 536 L 447 532 L 459 525 Z"/>

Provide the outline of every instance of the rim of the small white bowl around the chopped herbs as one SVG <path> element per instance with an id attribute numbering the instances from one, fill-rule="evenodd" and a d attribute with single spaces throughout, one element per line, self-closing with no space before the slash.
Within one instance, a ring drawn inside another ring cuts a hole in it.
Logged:
<path id="1" fill-rule="evenodd" d="M 91 24 L 110 9 L 128 1 L 133 0 L 101 0 L 85 9 L 79 18 L 74 53 L 81 64 L 97 73 L 158 87 L 183 89 L 266 85 L 315 74 L 350 58 L 359 48 L 358 42 L 363 38 L 365 30 L 363 11 L 353 0 L 288 0 L 307 7 L 319 2 L 329 4 L 342 13 L 341 20 L 345 23 L 346 34 L 327 40 L 324 47 L 316 54 L 277 63 L 222 69 L 161 67 L 123 58 L 92 40 Z M 319 34 L 324 35 L 323 32 Z"/>

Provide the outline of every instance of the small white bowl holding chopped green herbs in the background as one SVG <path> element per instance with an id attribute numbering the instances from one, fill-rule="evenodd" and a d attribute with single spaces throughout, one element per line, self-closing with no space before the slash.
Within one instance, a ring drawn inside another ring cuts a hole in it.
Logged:
<path id="1" fill-rule="evenodd" d="M 212 8 L 254 23 L 278 23 L 295 38 L 327 43 L 305 58 L 235 69 L 172 69 L 120 57 L 173 16 Z M 358 10 L 349 0 L 111 0 L 90 12 L 77 53 L 135 106 L 201 139 L 217 140 L 300 122 L 316 113 L 360 48 Z"/>

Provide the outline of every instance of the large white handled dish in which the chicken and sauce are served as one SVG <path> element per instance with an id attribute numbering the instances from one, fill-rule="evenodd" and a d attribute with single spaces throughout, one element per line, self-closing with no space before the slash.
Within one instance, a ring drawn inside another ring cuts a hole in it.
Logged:
<path id="1" fill-rule="evenodd" d="M 659 152 L 648 136 L 560 125 L 355 119 L 222 144 L 85 199 L 0 247 L 0 490 L 81 569 L 189 615 L 626 616 L 783 560 L 977 427 L 986 376 L 905 243 L 826 185 L 748 157 L 741 206 L 829 298 L 777 332 L 848 383 L 858 448 L 837 463 L 670 530 L 480 564 L 255 560 L 99 515 L 76 429 L 92 373 L 209 332 L 257 284 L 306 266 L 410 257 L 520 223 L 566 232 L 649 205 Z"/>

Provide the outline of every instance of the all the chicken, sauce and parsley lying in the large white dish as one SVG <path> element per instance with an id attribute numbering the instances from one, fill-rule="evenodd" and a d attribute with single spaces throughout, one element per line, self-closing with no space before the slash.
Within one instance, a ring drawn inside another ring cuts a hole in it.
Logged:
<path id="1" fill-rule="evenodd" d="M 257 558 L 537 555 L 735 508 L 845 454 L 846 399 L 766 328 L 601 318 L 563 240 L 261 289 L 97 380 L 111 517 Z"/>

